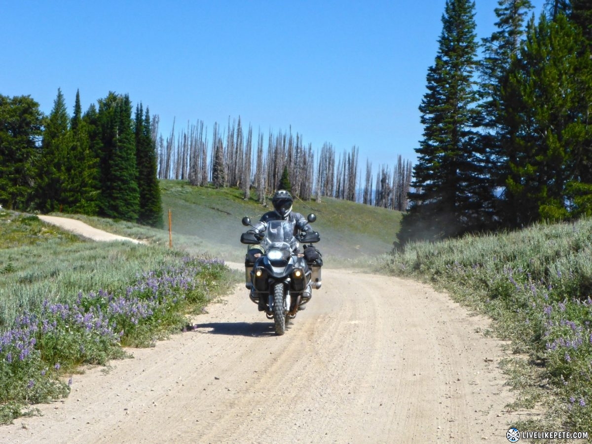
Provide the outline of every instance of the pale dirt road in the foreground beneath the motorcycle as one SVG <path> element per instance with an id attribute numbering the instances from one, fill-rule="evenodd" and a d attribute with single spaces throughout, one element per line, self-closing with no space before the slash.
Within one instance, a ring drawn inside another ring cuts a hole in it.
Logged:
<path id="1" fill-rule="evenodd" d="M 73 375 L 0 443 L 507 442 L 500 343 L 417 282 L 323 269 L 284 336 L 244 287 L 194 321 Z"/>

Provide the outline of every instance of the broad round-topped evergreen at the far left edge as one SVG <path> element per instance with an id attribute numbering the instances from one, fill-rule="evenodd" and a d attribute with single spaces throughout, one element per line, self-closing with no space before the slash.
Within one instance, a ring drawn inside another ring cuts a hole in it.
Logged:
<path id="1" fill-rule="evenodd" d="M 8 210 L 28 210 L 41 117 L 30 96 L 0 94 L 0 204 Z"/>

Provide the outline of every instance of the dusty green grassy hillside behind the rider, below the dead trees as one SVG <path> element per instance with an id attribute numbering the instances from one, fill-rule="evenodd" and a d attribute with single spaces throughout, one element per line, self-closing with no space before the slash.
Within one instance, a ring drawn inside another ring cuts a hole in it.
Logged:
<path id="1" fill-rule="evenodd" d="M 198 188 L 179 181 L 162 181 L 165 212 L 172 212 L 172 229 L 178 241 L 190 250 L 207 250 L 230 260 L 242 260 L 246 247 L 239 242 L 245 228 L 243 216 L 253 221 L 271 207 L 253 197 L 243 199 L 238 189 Z M 294 211 L 315 213 L 313 224 L 321 234 L 318 248 L 327 265 L 368 262 L 388 253 L 399 230 L 401 213 L 332 198 L 295 201 Z M 166 220 L 166 217 L 165 217 Z"/>

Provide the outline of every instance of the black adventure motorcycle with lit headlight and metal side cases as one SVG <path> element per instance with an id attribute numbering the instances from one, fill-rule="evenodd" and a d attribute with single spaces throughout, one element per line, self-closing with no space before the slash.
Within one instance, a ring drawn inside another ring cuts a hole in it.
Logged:
<path id="1" fill-rule="evenodd" d="M 309 214 L 307 220 L 313 223 L 316 215 Z M 260 231 L 251 225 L 248 217 L 243 217 L 242 223 L 253 230 L 243 233 L 240 242 L 260 244 L 265 251 L 254 263 L 245 260 L 245 285 L 250 289 L 250 300 L 258 305 L 260 300 L 264 301 L 267 318 L 274 320 L 275 333 L 284 334 L 289 321 L 310 301 L 311 289 L 321 288 L 323 264 L 320 253 L 313 247 L 320 236 L 317 231 L 295 236 L 294 221 L 269 221 Z M 307 256 L 316 259 L 307 261 L 299 253 L 300 243 L 309 243 L 304 248 L 313 249 L 316 255 Z"/>

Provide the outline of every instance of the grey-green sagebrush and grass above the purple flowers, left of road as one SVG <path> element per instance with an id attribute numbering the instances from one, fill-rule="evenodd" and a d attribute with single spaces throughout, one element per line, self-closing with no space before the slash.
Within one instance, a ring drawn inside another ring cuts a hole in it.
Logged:
<path id="1" fill-rule="evenodd" d="M 44 224 L 36 216 L 0 213 L 0 329 L 44 300 L 66 303 L 79 291 L 113 291 L 140 271 L 179 263 L 165 246 L 93 242 Z"/>

